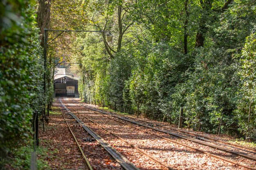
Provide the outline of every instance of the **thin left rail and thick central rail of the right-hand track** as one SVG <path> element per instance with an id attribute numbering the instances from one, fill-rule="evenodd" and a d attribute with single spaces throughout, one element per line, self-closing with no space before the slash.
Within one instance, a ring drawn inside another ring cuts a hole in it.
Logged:
<path id="1" fill-rule="evenodd" d="M 86 107 L 86 108 L 89 108 L 89 109 L 91 109 L 91 110 L 97 111 L 97 112 L 99 112 L 99 113 L 101 113 L 101 114 L 103 113 L 103 114 L 105 114 L 105 116 L 106 116 L 106 115 L 110 115 L 110 116 L 113 116 L 113 117 L 122 119 L 122 120 L 124 120 L 124 121 L 130 121 L 131 123 L 137 124 L 137 125 L 139 125 L 139 126 L 144 126 L 144 127 L 146 127 L 146 128 L 150 128 L 150 129 L 153 129 L 153 130 L 157 130 L 157 131 L 160 131 L 160 132 L 164 132 L 164 133 L 173 135 L 173 133 L 166 132 L 166 130 L 155 129 L 155 128 L 153 128 L 152 126 L 148 126 L 148 125 L 145 125 L 145 124 L 140 124 L 140 123 L 138 123 L 138 122 L 136 122 L 136 121 L 132 121 L 132 120 L 130 120 L 129 118 L 126 118 L 126 117 L 121 117 L 121 116 L 119 116 L 119 115 L 114 115 L 114 114 L 112 114 L 112 113 L 107 113 L 107 112 L 102 111 L 102 110 L 98 110 L 98 109 L 95 109 L 95 108 L 92 108 L 92 107 L 89 107 L 89 106 L 85 106 L 85 105 L 80 104 L 80 103 L 78 103 L 78 102 L 76 102 L 76 101 L 74 101 L 74 100 L 73 100 L 73 102 L 76 103 L 76 104 L 79 104 L 79 105 L 81 105 L 81 106 L 84 106 L 84 107 Z M 97 112 L 95 112 L 95 113 L 97 113 Z M 99 113 L 97 113 L 97 114 L 99 114 Z M 108 117 L 108 118 L 111 119 L 110 117 Z M 115 120 L 115 119 L 112 119 L 112 120 L 117 121 L 117 120 Z M 120 121 L 118 121 L 118 122 L 120 122 Z M 123 122 L 120 122 L 120 123 L 124 124 Z M 133 127 L 133 128 L 134 128 L 134 127 Z M 139 129 L 139 130 L 141 130 L 141 129 Z M 142 130 L 142 131 L 143 131 L 143 130 Z M 145 131 L 145 132 L 146 132 L 146 131 Z M 147 133 L 150 133 L 150 132 L 147 132 Z M 152 133 L 150 133 L 150 134 L 152 134 Z M 155 135 L 155 134 L 152 134 L 152 135 Z M 219 159 L 228 161 L 228 162 L 230 162 L 230 163 L 237 164 L 237 165 L 239 165 L 239 166 L 241 166 L 241 167 L 254 170 L 254 168 L 252 168 L 252 167 L 250 167 L 250 166 L 246 166 L 246 165 L 243 165 L 243 164 L 238 163 L 238 162 L 236 162 L 236 161 L 232 161 L 232 160 L 226 159 L 226 158 L 224 158 L 224 157 L 220 157 L 220 156 L 215 155 L 215 154 L 212 154 L 212 153 L 210 153 L 210 152 L 205 152 L 205 151 L 203 151 L 203 150 L 199 150 L 199 149 L 197 149 L 197 148 L 193 148 L 193 147 L 191 147 L 191 146 L 188 146 L 188 145 L 185 145 L 185 144 L 181 144 L 181 143 L 179 143 L 179 142 L 177 142 L 177 141 L 173 141 L 173 140 L 171 140 L 171 139 L 168 139 L 168 138 L 165 138 L 165 137 L 162 137 L 162 136 L 159 136 L 159 135 L 155 135 L 155 136 L 160 137 L 160 138 L 163 138 L 163 139 L 166 139 L 166 140 L 168 140 L 168 141 L 172 141 L 172 142 L 174 142 L 174 143 L 177 143 L 177 144 L 180 144 L 180 145 L 183 145 L 183 146 L 186 146 L 186 147 L 189 147 L 189 148 L 191 148 L 191 149 L 193 149 L 193 150 L 197 150 L 197 151 L 199 151 L 199 152 L 203 152 L 203 153 L 205 153 L 205 154 L 207 154 L 207 155 L 211 155 L 211 156 L 213 156 L 213 157 L 216 157 L 216 158 L 219 158 Z M 176 135 L 176 134 L 175 134 L 175 136 L 176 136 L 176 137 L 180 137 L 180 135 Z M 184 137 L 181 137 L 181 138 L 190 140 L 189 138 L 184 138 Z M 191 140 L 191 141 L 193 141 L 193 140 Z M 196 142 L 196 143 L 198 143 L 198 142 Z M 206 145 L 206 144 L 204 143 L 204 145 Z M 209 146 L 209 145 L 207 145 L 207 146 Z M 213 148 L 215 148 L 215 147 L 213 147 Z M 223 151 L 226 151 L 226 150 L 223 149 Z M 230 152 L 230 151 L 231 151 L 231 150 L 229 150 L 229 152 Z M 231 153 L 236 154 L 237 152 L 231 152 Z M 239 153 L 238 153 L 238 154 L 239 154 Z M 238 155 L 238 154 L 236 154 L 236 155 Z M 241 154 L 241 155 L 243 155 L 243 154 Z M 240 156 L 241 156 L 241 155 L 240 155 Z M 254 157 L 251 157 L 251 156 L 248 156 L 248 155 L 245 155 L 245 157 L 246 157 L 247 159 L 248 159 L 248 158 L 249 158 L 249 159 L 251 159 L 251 158 L 254 159 Z M 254 159 L 254 160 L 255 160 L 255 159 Z"/>

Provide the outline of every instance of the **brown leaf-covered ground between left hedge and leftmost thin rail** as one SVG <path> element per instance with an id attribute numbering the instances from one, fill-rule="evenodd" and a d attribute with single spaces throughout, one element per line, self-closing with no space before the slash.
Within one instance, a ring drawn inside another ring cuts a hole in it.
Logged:
<path id="1" fill-rule="evenodd" d="M 56 103 L 49 116 L 49 124 L 45 123 L 45 132 L 42 127 L 39 130 L 39 145 L 57 151 L 55 157 L 45 159 L 52 169 L 86 169 L 83 157 Z"/>

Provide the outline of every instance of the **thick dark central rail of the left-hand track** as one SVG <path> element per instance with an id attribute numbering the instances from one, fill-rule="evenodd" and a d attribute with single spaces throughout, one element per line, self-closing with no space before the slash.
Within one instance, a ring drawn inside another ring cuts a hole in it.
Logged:
<path id="1" fill-rule="evenodd" d="M 61 102 L 61 99 L 60 99 Z M 62 102 L 61 104 L 67 110 L 67 112 L 76 119 L 76 121 L 92 136 L 96 139 L 99 144 L 123 167 L 125 170 L 139 170 L 136 166 L 134 166 L 126 157 L 121 155 L 115 148 L 112 148 L 104 139 L 102 139 L 97 133 L 91 130 L 88 126 L 76 117 Z"/>

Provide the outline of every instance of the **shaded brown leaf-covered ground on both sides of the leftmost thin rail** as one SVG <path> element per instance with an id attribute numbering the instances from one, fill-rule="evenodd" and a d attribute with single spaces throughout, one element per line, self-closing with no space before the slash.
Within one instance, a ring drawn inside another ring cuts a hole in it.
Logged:
<path id="1" fill-rule="evenodd" d="M 49 150 L 57 150 L 55 157 L 45 158 L 52 169 L 87 169 L 79 148 L 77 147 L 72 134 L 61 114 L 58 103 L 54 102 L 52 112 L 49 116 L 49 123 L 45 124 L 45 132 L 40 129 L 40 146 Z M 88 133 L 79 128 L 75 120 L 64 113 L 70 124 L 85 156 L 95 170 L 121 169 L 120 165 L 97 143 L 97 141 L 84 141 Z M 40 157 L 40 155 L 39 155 Z"/>

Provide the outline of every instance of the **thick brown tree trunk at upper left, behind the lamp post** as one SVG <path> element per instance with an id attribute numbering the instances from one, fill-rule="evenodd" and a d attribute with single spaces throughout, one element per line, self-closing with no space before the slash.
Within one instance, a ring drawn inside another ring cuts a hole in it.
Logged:
<path id="1" fill-rule="evenodd" d="M 40 28 L 41 46 L 44 46 L 44 29 L 49 29 L 52 0 L 38 0 L 37 23 Z"/>

